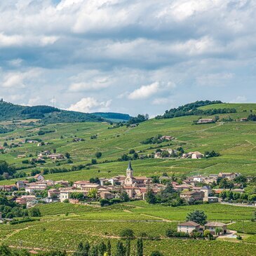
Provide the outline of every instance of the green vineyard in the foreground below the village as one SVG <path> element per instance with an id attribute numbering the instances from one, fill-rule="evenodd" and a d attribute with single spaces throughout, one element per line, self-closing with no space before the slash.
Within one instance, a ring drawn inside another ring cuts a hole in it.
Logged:
<path id="1" fill-rule="evenodd" d="M 164 255 L 252 255 L 256 253 L 255 236 L 241 243 L 229 241 L 193 241 L 167 238 L 166 230 L 177 229 L 191 210 L 204 210 L 208 220 L 238 220 L 230 229 L 241 232 L 245 220 L 245 233 L 253 233 L 256 222 L 249 222 L 253 209 L 221 204 L 183 206 L 171 208 L 151 206 L 142 201 L 105 208 L 52 203 L 38 206 L 42 217 L 34 222 L 0 225 L 2 243 L 25 248 L 64 249 L 72 252 L 80 241 L 96 243 L 110 239 L 113 248 L 123 229 L 133 229 L 135 236 L 144 237 L 146 255 L 160 250 Z M 239 222 L 240 221 L 240 222 Z M 246 242 L 246 243 L 245 243 Z M 135 243 L 133 241 L 132 245 Z M 250 243 L 250 244 L 248 244 Z M 214 253 L 213 253 L 214 252 Z M 231 253 L 231 254 L 230 254 Z"/>

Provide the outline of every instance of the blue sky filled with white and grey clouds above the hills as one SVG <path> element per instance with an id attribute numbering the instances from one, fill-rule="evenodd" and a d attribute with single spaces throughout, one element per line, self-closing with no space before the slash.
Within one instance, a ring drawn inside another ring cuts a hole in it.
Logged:
<path id="1" fill-rule="evenodd" d="M 0 1 L 0 97 L 162 114 L 255 102 L 255 0 Z"/>

